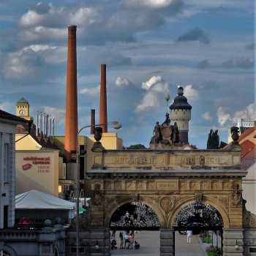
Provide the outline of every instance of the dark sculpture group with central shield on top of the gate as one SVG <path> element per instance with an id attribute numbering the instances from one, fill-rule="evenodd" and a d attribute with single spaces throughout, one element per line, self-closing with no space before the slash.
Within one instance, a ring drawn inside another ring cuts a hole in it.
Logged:
<path id="1" fill-rule="evenodd" d="M 170 124 L 169 114 L 166 113 L 165 121 L 160 125 L 156 122 L 153 131 L 154 136 L 150 140 L 150 146 L 161 144 L 161 146 L 172 146 L 172 145 L 182 145 L 179 138 L 178 126 L 174 122 L 173 125 Z"/>

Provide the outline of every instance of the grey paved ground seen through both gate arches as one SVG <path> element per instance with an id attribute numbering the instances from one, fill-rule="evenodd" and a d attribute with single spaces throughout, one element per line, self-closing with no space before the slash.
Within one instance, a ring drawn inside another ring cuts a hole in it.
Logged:
<path id="1" fill-rule="evenodd" d="M 135 241 L 140 244 L 140 249 L 119 249 L 119 233 L 116 232 L 116 241 L 118 249 L 111 249 L 111 255 L 140 255 L 140 256 L 157 256 L 160 255 L 160 232 L 159 231 L 142 231 L 141 234 L 135 234 Z M 193 236 L 191 244 L 187 243 L 187 236 L 180 235 L 176 232 L 175 238 L 175 256 L 205 256 L 207 255 L 202 248 L 197 236 Z"/>

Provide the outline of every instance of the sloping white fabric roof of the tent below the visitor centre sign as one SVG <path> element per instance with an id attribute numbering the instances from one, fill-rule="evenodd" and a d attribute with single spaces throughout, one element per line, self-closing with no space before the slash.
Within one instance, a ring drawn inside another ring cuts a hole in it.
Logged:
<path id="1" fill-rule="evenodd" d="M 15 196 L 16 209 L 72 209 L 74 203 L 63 200 L 59 197 L 31 190 Z"/>

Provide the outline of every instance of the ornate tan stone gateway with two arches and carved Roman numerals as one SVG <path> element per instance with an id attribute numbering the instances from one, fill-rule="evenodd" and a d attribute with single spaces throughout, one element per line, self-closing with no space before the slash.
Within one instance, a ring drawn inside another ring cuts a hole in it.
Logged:
<path id="1" fill-rule="evenodd" d="M 244 207 L 242 178 L 246 171 L 241 170 L 240 159 L 236 141 L 230 149 L 220 151 L 95 151 L 94 165 L 87 172 L 91 207 L 86 222 L 80 214 L 80 251 L 110 255 L 110 229 L 125 226 L 136 230 L 139 224 L 148 228 L 151 223 L 152 229 L 161 232 L 161 256 L 175 254 L 174 231 L 192 224 L 197 225 L 191 227 L 195 230 L 223 231 L 222 255 L 250 255 L 244 252 L 256 238 L 248 227 L 256 227 L 256 218 Z M 184 219 L 189 214 L 190 219 Z M 69 238 L 71 241 L 67 234 L 67 244 Z"/>

